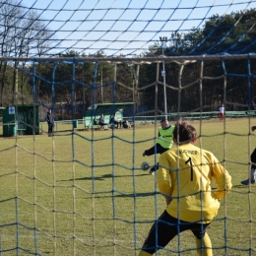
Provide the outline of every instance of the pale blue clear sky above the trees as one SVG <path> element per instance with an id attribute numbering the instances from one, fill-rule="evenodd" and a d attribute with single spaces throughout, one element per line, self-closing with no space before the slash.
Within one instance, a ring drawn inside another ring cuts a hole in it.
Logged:
<path id="1" fill-rule="evenodd" d="M 215 14 L 256 8 L 256 0 L 16 1 L 54 32 L 58 40 L 52 41 L 51 52 L 103 50 L 108 56 L 136 55 L 160 43 L 160 36 L 169 41 L 172 32 L 201 28 Z"/>

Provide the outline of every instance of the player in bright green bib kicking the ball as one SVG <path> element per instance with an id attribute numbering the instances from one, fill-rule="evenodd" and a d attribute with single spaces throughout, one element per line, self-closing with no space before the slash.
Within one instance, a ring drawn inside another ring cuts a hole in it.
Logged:
<path id="1" fill-rule="evenodd" d="M 152 156 L 155 154 L 162 154 L 163 152 L 169 150 L 172 147 L 173 139 L 172 139 L 172 133 L 173 133 L 174 126 L 169 125 L 169 122 L 167 119 L 163 118 L 160 120 L 160 128 L 159 128 L 159 138 L 157 140 L 157 144 L 150 148 L 149 150 L 146 150 L 143 153 L 143 157 L 145 156 Z M 150 170 L 150 173 L 153 174 L 154 171 L 158 170 L 159 166 L 158 163 L 153 166 Z"/>

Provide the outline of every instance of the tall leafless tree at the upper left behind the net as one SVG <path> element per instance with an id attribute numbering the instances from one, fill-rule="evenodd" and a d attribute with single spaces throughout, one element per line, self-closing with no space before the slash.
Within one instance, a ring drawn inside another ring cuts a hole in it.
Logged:
<path id="1" fill-rule="evenodd" d="M 28 57 L 30 55 L 41 56 L 46 45 L 50 43 L 51 33 L 46 30 L 45 25 L 38 19 L 38 14 L 31 9 L 24 8 L 17 0 L 0 0 L 0 55 L 13 57 Z M 13 68 L 13 78 L 7 78 L 8 66 Z M 26 62 L 7 63 L 0 62 L 0 98 L 3 102 L 3 91 L 6 86 L 12 86 L 13 99 L 15 96 L 16 68 L 28 69 Z M 29 76 L 25 72 L 19 72 L 19 88 L 21 94 L 25 93 L 25 86 L 28 84 Z M 8 83 L 9 82 L 9 83 Z M 39 90 L 39 89 L 37 89 Z M 13 103 L 10 102 L 10 103 Z M 22 97 L 24 103 L 24 97 Z"/>

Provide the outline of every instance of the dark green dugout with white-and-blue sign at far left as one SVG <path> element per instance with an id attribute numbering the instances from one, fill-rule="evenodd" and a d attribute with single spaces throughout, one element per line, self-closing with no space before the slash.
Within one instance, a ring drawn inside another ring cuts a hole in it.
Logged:
<path id="1" fill-rule="evenodd" d="M 20 104 L 3 110 L 3 136 L 11 137 L 17 134 L 39 134 L 38 105 Z"/>

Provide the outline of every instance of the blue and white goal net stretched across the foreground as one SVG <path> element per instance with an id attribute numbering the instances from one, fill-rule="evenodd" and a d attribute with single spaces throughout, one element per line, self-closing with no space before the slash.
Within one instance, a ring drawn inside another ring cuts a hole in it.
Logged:
<path id="1" fill-rule="evenodd" d="M 240 181 L 255 145 L 255 8 L 0 1 L 0 254 L 138 255 L 165 209 L 157 175 L 141 169 L 159 156 L 143 152 L 162 118 L 182 117 L 232 176 L 207 229 L 213 253 L 252 255 L 255 189 Z M 114 113 L 127 129 L 116 129 Z M 197 249 L 184 232 L 156 255 Z"/>

